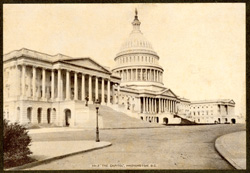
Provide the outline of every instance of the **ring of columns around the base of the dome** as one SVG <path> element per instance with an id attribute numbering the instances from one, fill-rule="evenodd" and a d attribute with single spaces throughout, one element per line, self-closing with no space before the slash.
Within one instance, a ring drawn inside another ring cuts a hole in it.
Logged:
<path id="1" fill-rule="evenodd" d="M 122 78 L 122 81 L 163 81 L 163 72 L 155 69 L 132 68 L 119 70 L 116 73 Z"/>

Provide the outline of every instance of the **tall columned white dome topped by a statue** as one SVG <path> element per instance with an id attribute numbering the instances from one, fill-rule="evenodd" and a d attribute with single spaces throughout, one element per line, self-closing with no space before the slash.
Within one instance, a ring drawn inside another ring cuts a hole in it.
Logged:
<path id="1" fill-rule="evenodd" d="M 140 30 L 141 22 L 135 11 L 133 30 L 115 56 L 112 72 L 121 77 L 121 86 L 149 88 L 163 86 L 163 68 L 159 56 Z"/>

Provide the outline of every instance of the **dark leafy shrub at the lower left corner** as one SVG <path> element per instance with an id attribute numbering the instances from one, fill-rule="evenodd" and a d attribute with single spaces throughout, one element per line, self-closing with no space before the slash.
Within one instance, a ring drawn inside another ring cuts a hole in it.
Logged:
<path id="1" fill-rule="evenodd" d="M 18 123 L 3 121 L 3 152 L 4 167 L 13 167 L 30 162 L 28 155 L 32 154 L 29 149 L 31 138 L 27 129 Z"/>

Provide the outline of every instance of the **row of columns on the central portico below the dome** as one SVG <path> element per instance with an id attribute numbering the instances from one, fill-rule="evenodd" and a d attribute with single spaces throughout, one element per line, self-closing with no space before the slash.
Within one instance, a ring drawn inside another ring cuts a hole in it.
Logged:
<path id="1" fill-rule="evenodd" d="M 177 112 L 177 101 L 163 98 L 142 97 L 142 113 Z"/>

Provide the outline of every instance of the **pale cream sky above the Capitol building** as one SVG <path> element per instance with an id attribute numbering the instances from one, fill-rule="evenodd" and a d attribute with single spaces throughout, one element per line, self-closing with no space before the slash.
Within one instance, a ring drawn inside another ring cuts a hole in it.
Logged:
<path id="1" fill-rule="evenodd" d="M 245 116 L 244 3 L 4 4 L 3 52 L 91 57 L 112 68 L 135 8 L 165 87 L 191 101 L 233 99 Z"/>

